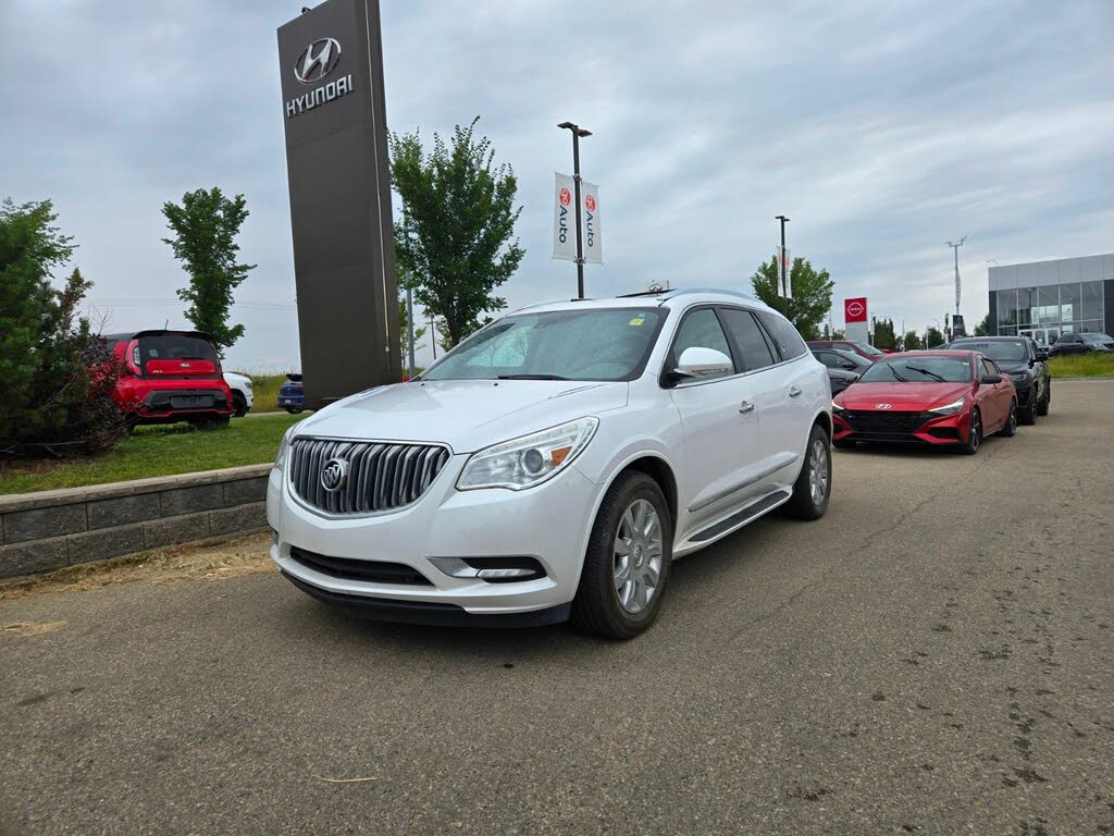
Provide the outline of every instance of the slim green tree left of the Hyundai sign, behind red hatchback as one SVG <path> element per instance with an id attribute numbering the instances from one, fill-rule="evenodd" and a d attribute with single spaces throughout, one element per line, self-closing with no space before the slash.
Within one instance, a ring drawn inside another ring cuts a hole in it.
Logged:
<path id="1" fill-rule="evenodd" d="M 236 262 L 236 235 L 248 214 L 245 203 L 244 195 L 229 200 L 214 186 L 186 192 L 180 206 L 169 201 L 163 204 L 166 224 L 174 233 L 163 242 L 189 273 L 189 286 L 178 291 L 178 299 L 189 302 L 186 319 L 213 337 L 222 357 L 244 333 L 243 325 L 228 324 L 233 291 L 255 269 L 254 264 Z"/>

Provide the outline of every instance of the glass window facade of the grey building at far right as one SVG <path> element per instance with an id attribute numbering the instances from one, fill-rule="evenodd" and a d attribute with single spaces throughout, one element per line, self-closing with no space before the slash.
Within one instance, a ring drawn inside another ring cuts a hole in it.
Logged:
<path id="1" fill-rule="evenodd" d="M 995 293 L 999 334 L 1044 329 L 1051 340 L 1073 331 L 1103 330 L 1102 282 L 1067 282 Z"/>

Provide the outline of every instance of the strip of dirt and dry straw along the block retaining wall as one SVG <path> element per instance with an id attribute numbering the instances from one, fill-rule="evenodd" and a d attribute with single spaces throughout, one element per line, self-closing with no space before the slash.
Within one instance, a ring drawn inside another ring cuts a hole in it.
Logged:
<path id="1" fill-rule="evenodd" d="M 267 553 L 270 545 L 271 535 L 262 533 L 211 545 L 175 546 L 104 563 L 68 566 L 25 581 L 0 584 L 0 601 L 45 592 L 88 592 L 139 581 L 212 581 L 275 572 L 274 562 Z"/>

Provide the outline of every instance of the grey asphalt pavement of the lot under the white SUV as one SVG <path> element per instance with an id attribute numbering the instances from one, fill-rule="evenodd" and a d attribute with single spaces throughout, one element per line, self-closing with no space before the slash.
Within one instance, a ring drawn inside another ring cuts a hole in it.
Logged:
<path id="1" fill-rule="evenodd" d="M 274 573 L 0 601 L 66 622 L 0 631 L 0 833 L 1114 833 L 1112 415 L 1057 380 L 976 457 L 837 451 L 627 643 Z"/>

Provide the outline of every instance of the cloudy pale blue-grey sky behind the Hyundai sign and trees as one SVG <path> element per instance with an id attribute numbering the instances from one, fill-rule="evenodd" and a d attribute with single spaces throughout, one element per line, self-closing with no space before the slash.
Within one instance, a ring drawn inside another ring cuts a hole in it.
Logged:
<path id="1" fill-rule="evenodd" d="M 299 368 L 275 29 L 306 0 L 0 0 L 0 197 L 50 198 L 106 330 L 185 327 L 160 207 L 242 193 L 246 333 Z M 603 265 L 587 294 L 747 290 L 778 243 L 900 328 L 987 310 L 987 265 L 1114 252 L 1114 2 L 382 0 L 388 125 L 480 116 L 527 254 L 510 308 L 575 294 L 555 171 L 589 128 Z M 395 210 L 398 202 L 395 201 Z M 429 340 L 419 362 L 429 357 Z"/>

